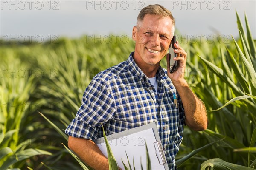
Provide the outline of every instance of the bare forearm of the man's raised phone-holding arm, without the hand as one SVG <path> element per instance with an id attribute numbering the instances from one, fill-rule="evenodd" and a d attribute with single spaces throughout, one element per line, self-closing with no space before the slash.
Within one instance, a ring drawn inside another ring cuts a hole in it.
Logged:
<path id="1" fill-rule="evenodd" d="M 183 103 L 186 125 L 193 130 L 205 130 L 207 128 L 207 113 L 204 103 L 195 96 L 185 80 L 183 83 L 176 84 L 175 88 Z"/>

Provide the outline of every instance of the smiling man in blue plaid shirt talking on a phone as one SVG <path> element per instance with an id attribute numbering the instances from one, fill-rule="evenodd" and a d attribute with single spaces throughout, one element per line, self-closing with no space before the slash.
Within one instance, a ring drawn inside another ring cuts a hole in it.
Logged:
<path id="1" fill-rule="evenodd" d="M 68 146 L 91 167 L 108 169 L 108 159 L 93 142 L 107 135 L 155 122 L 170 169 L 183 138 L 183 125 L 194 130 L 207 128 L 204 104 L 184 79 L 187 54 L 178 42 L 178 69 L 170 74 L 160 66 L 173 34 L 175 21 L 160 5 L 143 8 L 132 37 L 135 51 L 127 61 L 97 74 L 86 88 L 82 105 L 66 129 Z M 167 61 L 169 54 L 167 54 Z M 178 106 L 174 103 L 177 96 Z"/>

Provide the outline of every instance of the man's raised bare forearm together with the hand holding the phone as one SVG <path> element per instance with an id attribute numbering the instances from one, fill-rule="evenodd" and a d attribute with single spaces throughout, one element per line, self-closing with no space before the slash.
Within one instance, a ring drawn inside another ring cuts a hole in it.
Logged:
<path id="1" fill-rule="evenodd" d="M 176 41 L 174 46 L 177 48 L 175 53 L 180 54 L 177 57 L 173 57 L 175 61 L 178 61 L 178 68 L 175 72 L 170 73 L 169 55 L 167 54 L 167 75 L 172 80 L 173 85 L 178 91 L 184 111 L 185 111 L 185 123 L 193 130 L 205 130 L 207 128 L 207 113 L 204 103 L 198 99 L 195 94 L 190 90 L 188 83 L 184 79 L 186 71 L 186 51 L 180 47 L 179 42 Z"/>

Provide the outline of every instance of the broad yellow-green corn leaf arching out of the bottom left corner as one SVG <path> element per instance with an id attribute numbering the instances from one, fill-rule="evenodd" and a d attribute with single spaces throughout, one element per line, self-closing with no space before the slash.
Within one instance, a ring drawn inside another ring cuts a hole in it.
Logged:
<path id="1" fill-rule="evenodd" d="M 52 155 L 52 153 L 49 153 L 45 150 L 40 150 L 40 149 L 26 149 L 26 150 L 21 150 L 15 155 L 12 155 L 8 157 L 8 159 L 2 164 L 0 169 L 5 170 L 6 168 L 10 167 L 12 164 L 17 163 L 18 161 L 23 161 L 25 159 L 31 158 L 32 156 L 36 155 Z"/>

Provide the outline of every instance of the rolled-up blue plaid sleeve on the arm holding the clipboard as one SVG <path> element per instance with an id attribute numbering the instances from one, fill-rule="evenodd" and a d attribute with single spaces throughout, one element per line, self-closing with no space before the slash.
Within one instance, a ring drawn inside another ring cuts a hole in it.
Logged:
<path id="1" fill-rule="evenodd" d="M 99 128 L 113 119 L 114 112 L 115 103 L 108 86 L 104 81 L 94 79 L 86 88 L 82 105 L 65 132 L 69 136 L 95 141 Z"/>

